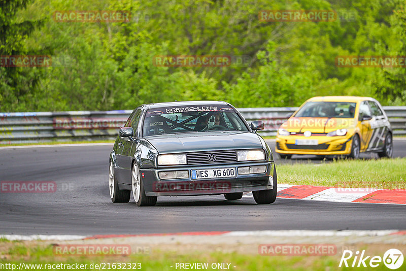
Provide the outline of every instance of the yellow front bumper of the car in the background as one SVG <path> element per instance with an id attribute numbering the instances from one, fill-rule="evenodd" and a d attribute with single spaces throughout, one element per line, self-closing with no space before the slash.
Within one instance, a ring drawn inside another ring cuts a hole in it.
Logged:
<path id="1" fill-rule="evenodd" d="M 296 145 L 296 140 L 317 140 L 318 145 Z M 352 136 L 327 137 L 277 136 L 275 151 L 281 154 L 348 155 L 351 153 Z"/>

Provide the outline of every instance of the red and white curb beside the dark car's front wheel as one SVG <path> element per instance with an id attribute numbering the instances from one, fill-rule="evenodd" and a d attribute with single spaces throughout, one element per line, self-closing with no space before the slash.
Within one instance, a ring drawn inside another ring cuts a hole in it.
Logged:
<path id="1" fill-rule="evenodd" d="M 252 197 L 249 192 L 243 197 Z M 333 202 L 406 204 L 406 190 L 334 188 L 314 185 L 278 185 L 278 197 Z"/>

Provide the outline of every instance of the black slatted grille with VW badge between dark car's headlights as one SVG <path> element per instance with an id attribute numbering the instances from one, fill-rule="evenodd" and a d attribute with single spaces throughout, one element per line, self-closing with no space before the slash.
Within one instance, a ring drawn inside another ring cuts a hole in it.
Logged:
<path id="1" fill-rule="evenodd" d="M 215 161 L 209 160 L 209 155 L 216 155 Z M 187 164 L 221 164 L 237 161 L 236 151 L 189 152 L 186 154 Z"/>

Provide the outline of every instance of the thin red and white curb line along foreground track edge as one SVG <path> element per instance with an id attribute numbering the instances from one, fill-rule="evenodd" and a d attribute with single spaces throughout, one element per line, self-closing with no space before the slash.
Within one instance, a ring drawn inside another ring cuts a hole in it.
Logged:
<path id="1" fill-rule="evenodd" d="M 0 234 L 0 238 L 10 241 L 74 241 L 95 240 L 129 237 L 153 237 L 153 236 L 269 236 L 269 237 L 328 237 L 328 236 L 389 236 L 406 235 L 406 230 L 242 230 L 242 231 L 195 231 L 175 233 L 150 233 L 150 234 L 105 234 L 105 235 L 18 235 Z"/>

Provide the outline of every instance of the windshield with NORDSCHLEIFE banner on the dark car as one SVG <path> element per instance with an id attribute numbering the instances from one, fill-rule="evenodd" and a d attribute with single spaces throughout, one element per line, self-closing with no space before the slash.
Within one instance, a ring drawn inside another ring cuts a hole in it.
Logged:
<path id="1" fill-rule="evenodd" d="M 249 131 L 230 106 L 181 106 L 149 109 L 143 123 L 143 136 L 199 131 Z"/>

